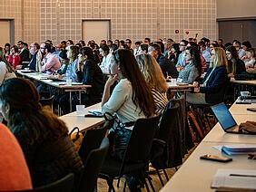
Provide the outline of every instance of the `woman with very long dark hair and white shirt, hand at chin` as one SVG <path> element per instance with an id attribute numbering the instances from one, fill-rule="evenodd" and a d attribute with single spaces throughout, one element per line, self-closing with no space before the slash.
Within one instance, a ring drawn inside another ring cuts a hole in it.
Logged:
<path id="1" fill-rule="evenodd" d="M 111 75 L 105 83 L 103 91 L 103 113 L 116 114 L 118 120 L 122 123 L 153 117 L 156 110 L 153 94 L 145 82 L 142 72 L 140 72 L 133 53 L 130 50 L 119 49 L 113 55 L 114 62 L 110 66 Z M 118 83 L 111 94 L 111 86 L 116 81 Z M 122 134 L 125 134 L 125 136 L 129 137 L 131 130 L 133 130 L 133 125 L 120 130 L 118 135 L 122 137 Z M 125 149 L 114 150 L 112 155 L 115 158 L 122 159 L 124 151 Z M 138 191 L 137 179 L 133 179 L 132 176 L 125 177 L 130 191 Z"/>

